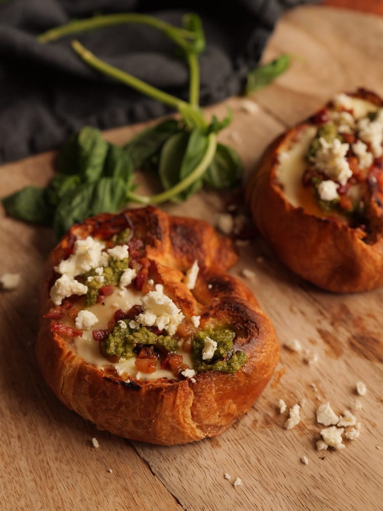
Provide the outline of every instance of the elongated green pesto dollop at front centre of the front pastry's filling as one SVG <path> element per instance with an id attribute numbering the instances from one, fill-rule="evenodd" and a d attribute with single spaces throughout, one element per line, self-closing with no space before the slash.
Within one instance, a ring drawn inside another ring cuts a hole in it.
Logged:
<path id="1" fill-rule="evenodd" d="M 102 353 L 106 357 L 129 359 L 135 357 L 137 345 L 163 347 L 166 351 L 175 351 L 178 343 L 170 335 L 157 335 L 146 327 L 133 330 L 129 327 L 129 319 L 117 321 L 113 331 L 101 341 Z M 125 327 L 124 327 L 125 325 Z"/>

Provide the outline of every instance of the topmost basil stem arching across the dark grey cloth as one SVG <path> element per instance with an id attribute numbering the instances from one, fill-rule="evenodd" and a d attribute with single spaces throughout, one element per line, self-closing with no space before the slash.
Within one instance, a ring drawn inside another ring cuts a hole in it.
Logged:
<path id="1" fill-rule="evenodd" d="M 153 16 L 137 13 L 118 13 L 93 16 L 92 18 L 70 21 L 66 25 L 55 27 L 44 32 L 43 34 L 40 34 L 37 37 L 37 40 L 42 43 L 51 42 L 70 34 L 87 32 L 102 27 L 110 27 L 127 23 L 139 23 L 160 30 L 172 40 L 174 40 L 177 44 L 180 44 L 184 49 L 186 49 L 187 46 L 187 42 L 184 39 L 195 39 L 194 32 L 174 27 L 173 25 L 170 25 L 169 23 L 166 23 L 165 21 L 157 19 Z"/>

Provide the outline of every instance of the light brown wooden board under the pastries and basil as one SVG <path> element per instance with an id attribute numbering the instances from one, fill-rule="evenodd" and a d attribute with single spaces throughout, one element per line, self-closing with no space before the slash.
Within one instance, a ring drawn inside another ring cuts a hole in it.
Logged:
<path id="1" fill-rule="evenodd" d="M 232 109 L 222 140 L 241 154 L 247 175 L 277 134 L 335 92 L 365 86 L 383 95 L 382 18 L 319 6 L 292 10 L 280 20 L 264 60 L 282 52 L 296 55 L 291 68 L 251 98 L 251 111 L 242 98 L 208 110 L 222 116 L 226 106 Z M 122 143 L 141 127 L 113 130 L 107 137 Z M 1 195 L 46 183 L 53 158 L 47 153 L 3 166 Z M 214 222 L 224 211 L 223 197 L 200 193 L 165 209 Z M 0 294 L 1 509 L 383 509 L 383 289 L 357 295 L 320 291 L 286 270 L 255 237 L 240 247 L 232 274 L 243 278 L 243 268 L 255 272 L 245 282 L 281 344 L 297 338 L 318 361 L 307 364 L 302 354 L 282 347 L 264 394 L 218 438 L 176 447 L 129 442 L 67 410 L 42 381 L 34 356 L 37 285 L 53 234 L 0 215 L 0 274 L 22 275 L 16 290 Z M 342 451 L 318 451 L 315 410 L 326 401 L 337 413 L 352 406 L 357 381 L 367 385 L 355 412 L 360 437 Z M 302 405 L 301 422 L 292 430 L 283 427 L 280 398 L 288 407 Z M 99 448 L 92 447 L 92 437 Z M 243 484 L 234 488 L 236 477 Z"/>

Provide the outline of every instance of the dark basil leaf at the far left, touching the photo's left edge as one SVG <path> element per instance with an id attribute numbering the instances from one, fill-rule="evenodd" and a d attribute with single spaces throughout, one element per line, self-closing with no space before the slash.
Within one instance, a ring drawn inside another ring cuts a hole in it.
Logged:
<path id="1" fill-rule="evenodd" d="M 23 222 L 50 225 L 52 211 L 45 200 L 45 189 L 30 186 L 2 199 L 8 216 Z"/>

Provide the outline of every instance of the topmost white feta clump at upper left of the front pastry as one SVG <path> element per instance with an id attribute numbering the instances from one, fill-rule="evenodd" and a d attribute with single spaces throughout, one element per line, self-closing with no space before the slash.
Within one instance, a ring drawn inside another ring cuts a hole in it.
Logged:
<path id="1" fill-rule="evenodd" d="M 55 271 L 75 277 L 93 268 L 106 266 L 108 264 L 108 254 L 102 252 L 104 247 L 104 243 L 94 240 L 90 236 L 85 240 L 77 240 L 75 241 L 73 254 L 68 259 L 61 261 L 55 267 Z"/>

